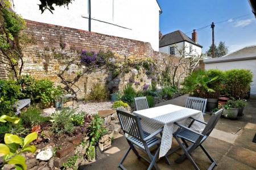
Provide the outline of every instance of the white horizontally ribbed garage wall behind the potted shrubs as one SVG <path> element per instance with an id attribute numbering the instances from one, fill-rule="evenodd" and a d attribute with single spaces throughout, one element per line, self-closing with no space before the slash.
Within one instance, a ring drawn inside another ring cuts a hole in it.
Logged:
<path id="1" fill-rule="evenodd" d="M 205 70 L 219 69 L 247 69 L 253 73 L 253 82 L 251 83 L 251 95 L 256 95 L 256 59 L 247 59 L 240 61 L 205 63 Z"/>

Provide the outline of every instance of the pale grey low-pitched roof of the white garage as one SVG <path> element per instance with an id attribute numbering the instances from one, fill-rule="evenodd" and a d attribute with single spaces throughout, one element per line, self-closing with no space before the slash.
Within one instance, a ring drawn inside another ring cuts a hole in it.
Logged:
<path id="1" fill-rule="evenodd" d="M 204 59 L 204 63 L 237 61 L 242 59 L 256 58 L 256 45 L 246 46 L 223 57 Z"/>

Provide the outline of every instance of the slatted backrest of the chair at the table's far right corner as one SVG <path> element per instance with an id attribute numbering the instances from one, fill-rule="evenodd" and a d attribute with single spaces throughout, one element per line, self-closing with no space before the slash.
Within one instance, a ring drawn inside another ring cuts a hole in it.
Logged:
<path id="1" fill-rule="evenodd" d="M 185 107 L 190 109 L 196 109 L 205 113 L 205 108 L 207 105 L 207 99 L 199 97 L 187 97 Z"/>

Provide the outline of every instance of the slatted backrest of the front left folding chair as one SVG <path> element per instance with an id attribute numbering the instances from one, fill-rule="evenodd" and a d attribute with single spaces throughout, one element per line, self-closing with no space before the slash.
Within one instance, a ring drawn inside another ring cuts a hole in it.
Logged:
<path id="1" fill-rule="evenodd" d="M 124 133 L 137 138 L 139 141 L 143 141 L 144 135 L 141 126 L 141 121 L 138 116 L 131 113 L 121 111 L 117 109 L 117 116 L 119 118 L 121 128 Z"/>

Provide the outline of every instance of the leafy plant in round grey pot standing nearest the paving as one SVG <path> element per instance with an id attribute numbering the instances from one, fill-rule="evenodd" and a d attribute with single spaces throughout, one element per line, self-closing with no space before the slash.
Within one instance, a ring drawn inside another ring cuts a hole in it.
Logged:
<path id="1" fill-rule="evenodd" d="M 228 103 L 223 106 L 223 116 L 229 119 L 236 119 L 239 109 L 237 106 L 237 100 L 228 100 Z"/>

